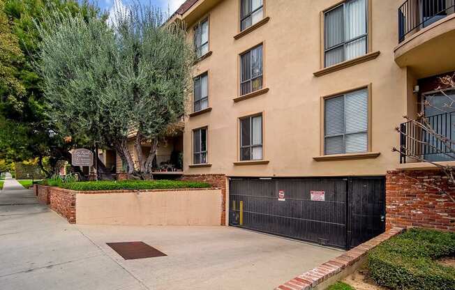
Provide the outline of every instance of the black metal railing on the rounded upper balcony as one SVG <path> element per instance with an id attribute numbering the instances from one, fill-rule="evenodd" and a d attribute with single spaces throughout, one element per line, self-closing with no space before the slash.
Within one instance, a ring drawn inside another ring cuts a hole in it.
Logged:
<path id="1" fill-rule="evenodd" d="M 454 13 L 455 0 L 408 0 L 398 8 L 398 42 L 449 14 Z"/>

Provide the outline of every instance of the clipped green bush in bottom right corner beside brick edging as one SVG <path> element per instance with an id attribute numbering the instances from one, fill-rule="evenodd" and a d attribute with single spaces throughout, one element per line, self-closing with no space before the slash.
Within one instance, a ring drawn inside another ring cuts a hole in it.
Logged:
<path id="1" fill-rule="evenodd" d="M 435 259 L 455 256 L 455 234 L 410 229 L 368 254 L 371 278 L 390 289 L 455 289 L 455 268 Z"/>

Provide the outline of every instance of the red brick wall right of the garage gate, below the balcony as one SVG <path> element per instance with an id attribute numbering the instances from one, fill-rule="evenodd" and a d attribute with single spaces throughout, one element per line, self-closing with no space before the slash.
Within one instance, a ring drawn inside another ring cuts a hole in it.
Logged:
<path id="1" fill-rule="evenodd" d="M 386 227 L 427 227 L 455 231 L 455 187 L 439 170 L 387 171 Z"/>

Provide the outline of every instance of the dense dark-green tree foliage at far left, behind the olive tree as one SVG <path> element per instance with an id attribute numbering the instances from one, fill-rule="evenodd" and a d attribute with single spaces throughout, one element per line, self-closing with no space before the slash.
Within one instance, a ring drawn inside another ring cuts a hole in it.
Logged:
<path id="1" fill-rule="evenodd" d="M 68 150 L 80 141 L 64 142 L 53 120 L 45 116 L 42 78 L 32 65 L 40 43 L 35 22 L 50 11 L 100 17 L 89 1 L 0 1 L 0 158 L 8 162 L 39 158 L 48 174 L 43 159 L 54 167 L 58 160 L 68 160 Z"/>

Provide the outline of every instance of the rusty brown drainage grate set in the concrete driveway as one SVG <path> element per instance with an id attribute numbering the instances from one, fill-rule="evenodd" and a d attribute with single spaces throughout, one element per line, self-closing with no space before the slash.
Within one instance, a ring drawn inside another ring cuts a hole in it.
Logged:
<path id="1" fill-rule="evenodd" d="M 126 260 L 163 257 L 167 254 L 156 250 L 143 242 L 106 243 Z"/>

